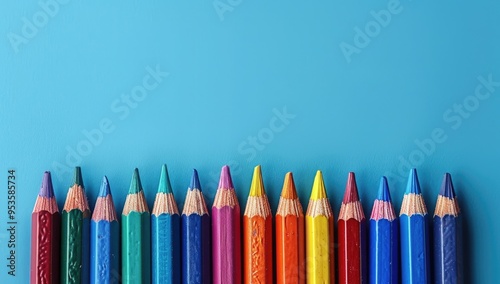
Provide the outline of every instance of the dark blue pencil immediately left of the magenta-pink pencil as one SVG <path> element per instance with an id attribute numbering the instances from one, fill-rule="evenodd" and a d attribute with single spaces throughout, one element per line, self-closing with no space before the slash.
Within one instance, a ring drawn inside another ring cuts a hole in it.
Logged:
<path id="1" fill-rule="evenodd" d="M 210 216 L 196 170 L 193 170 L 181 219 L 182 283 L 210 283 Z"/>

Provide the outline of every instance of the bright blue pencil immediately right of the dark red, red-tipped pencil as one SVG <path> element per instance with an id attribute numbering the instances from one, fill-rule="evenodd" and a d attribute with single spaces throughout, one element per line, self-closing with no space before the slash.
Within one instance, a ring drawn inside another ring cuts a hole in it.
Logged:
<path id="1" fill-rule="evenodd" d="M 399 283 L 399 221 L 391 201 L 387 178 L 380 179 L 370 218 L 369 281 L 371 284 Z"/>

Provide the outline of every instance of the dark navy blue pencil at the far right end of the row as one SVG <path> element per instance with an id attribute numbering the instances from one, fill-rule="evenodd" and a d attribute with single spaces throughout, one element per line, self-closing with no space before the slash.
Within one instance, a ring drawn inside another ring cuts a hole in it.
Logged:
<path id="1" fill-rule="evenodd" d="M 464 283 L 462 231 L 451 175 L 444 175 L 434 211 L 434 283 Z"/>

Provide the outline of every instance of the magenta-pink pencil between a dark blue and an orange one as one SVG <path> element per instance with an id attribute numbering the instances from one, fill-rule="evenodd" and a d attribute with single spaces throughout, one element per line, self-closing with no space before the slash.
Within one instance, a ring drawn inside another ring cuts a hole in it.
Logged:
<path id="1" fill-rule="evenodd" d="M 228 166 L 222 167 L 212 207 L 212 260 L 214 284 L 241 283 L 240 205 Z"/>

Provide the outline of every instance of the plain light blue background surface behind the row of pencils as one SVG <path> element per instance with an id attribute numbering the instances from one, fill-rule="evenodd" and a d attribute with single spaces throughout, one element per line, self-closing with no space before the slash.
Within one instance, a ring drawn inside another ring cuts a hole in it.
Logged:
<path id="1" fill-rule="evenodd" d="M 221 16 L 211 1 L 133 2 L 68 1 L 52 6 L 52 15 L 36 1 L 2 4 L 2 279 L 7 170 L 18 178 L 17 279 L 28 283 L 30 214 L 43 171 L 52 171 L 62 208 L 71 183 L 64 169 L 73 166 L 66 156 L 81 143 L 91 145 L 80 149 L 78 163 L 91 206 L 107 175 L 119 211 L 134 167 L 152 207 L 162 163 L 180 208 L 192 168 L 211 206 L 229 163 L 244 208 L 261 164 L 273 210 L 287 171 L 305 207 L 321 169 L 336 215 L 347 173 L 355 171 L 367 216 L 384 174 L 399 211 L 408 171 L 402 160 L 418 168 L 431 213 L 448 171 L 464 214 L 466 282 L 495 279 L 500 87 L 484 100 L 469 96 L 479 76 L 500 81 L 498 1 L 405 0 L 385 26 L 374 25 L 371 11 L 387 10 L 387 1 L 222 1 L 228 10 Z M 40 27 L 29 30 L 26 21 Z M 369 42 L 346 57 L 341 44 L 356 47 L 356 28 L 367 26 Z M 169 75 L 127 115 L 113 109 L 142 86 L 148 66 Z M 467 118 L 453 111 L 464 100 Z M 294 117 L 272 132 L 284 108 Z M 106 118 L 113 131 L 88 144 L 84 131 Z M 426 144 L 424 153 L 415 140 L 427 141 L 436 128 L 441 143 Z M 252 136 L 261 139 L 259 149 L 251 150 Z"/>

